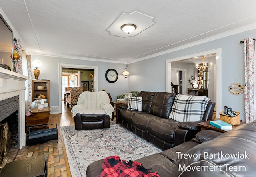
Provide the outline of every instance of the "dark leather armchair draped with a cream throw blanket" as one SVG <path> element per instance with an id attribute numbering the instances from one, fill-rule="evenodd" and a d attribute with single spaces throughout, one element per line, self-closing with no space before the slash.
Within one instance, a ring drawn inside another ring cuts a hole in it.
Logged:
<path id="1" fill-rule="evenodd" d="M 110 127 L 114 111 L 110 98 L 104 91 L 83 92 L 71 112 L 76 130 L 101 129 Z"/>

